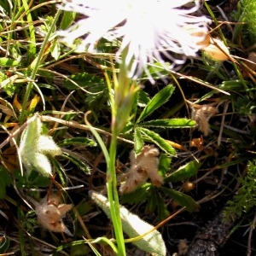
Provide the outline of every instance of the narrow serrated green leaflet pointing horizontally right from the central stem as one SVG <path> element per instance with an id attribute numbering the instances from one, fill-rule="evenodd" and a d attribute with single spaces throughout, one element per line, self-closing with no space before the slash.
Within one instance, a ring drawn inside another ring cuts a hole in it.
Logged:
<path id="1" fill-rule="evenodd" d="M 191 119 L 154 119 L 140 124 L 143 127 L 160 128 L 190 128 L 195 127 L 195 120 Z"/>

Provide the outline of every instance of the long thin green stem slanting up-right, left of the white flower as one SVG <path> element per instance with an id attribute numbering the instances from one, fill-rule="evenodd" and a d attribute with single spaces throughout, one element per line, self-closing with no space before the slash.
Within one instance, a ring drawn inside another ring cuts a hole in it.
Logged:
<path id="1" fill-rule="evenodd" d="M 32 87 L 33 87 L 32 81 L 36 79 L 36 75 L 38 73 L 38 67 L 41 64 L 41 60 L 43 59 L 44 50 L 46 48 L 46 45 L 48 44 L 49 37 L 51 36 L 51 32 L 54 31 L 56 22 L 59 19 L 59 16 L 61 15 L 61 11 L 62 11 L 61 9 L 58 9 L 58 11 L 56 12 L 55 18 L 54 18 L 51 26 L 49 27 L 49 32 L 46 34 L 46 36 L 44 38 L 44 42 L 43 42 L 42 47 L 39 51 L 38 57 L 36 58 L 35 61 L 32 62 L 33 65 L 31 65 L 30 67 L 27 68 L 28 72 L 32 71 L 31 76 L 30 76 L 31 82 L 29 82 L 27 84 L 27 87 L 26 87 L 26 93 L 25 93 L 25 96 L 24 96 L 24 99 L 23 99 L 23 102 L 22 102 L 22 109 L 21 109 L 21 112 L 20 112 L 20 123 L 25 122 L 25 119 L 26 119 L 26 104 L 29 101 L 29 97 L 30 97 L 31 90 L 32 90 Z"/>

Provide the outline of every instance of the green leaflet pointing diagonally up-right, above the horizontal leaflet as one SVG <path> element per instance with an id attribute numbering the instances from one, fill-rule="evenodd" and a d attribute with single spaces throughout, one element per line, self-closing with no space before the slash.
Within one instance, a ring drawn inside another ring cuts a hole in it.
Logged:
<path id="1" fill-rule="evenodd" d="M 157 108 L 160 108 L 164 103 L 168 101 L 172 92 L 174 91 L 174 86 L 172 84 L 167 85 L 165 88 L 160 90 L 147 104 L 143 109 L 143 113 L 137 119 L 137 124 L 145 119 L 149 114 L 153 113 Z"/>

